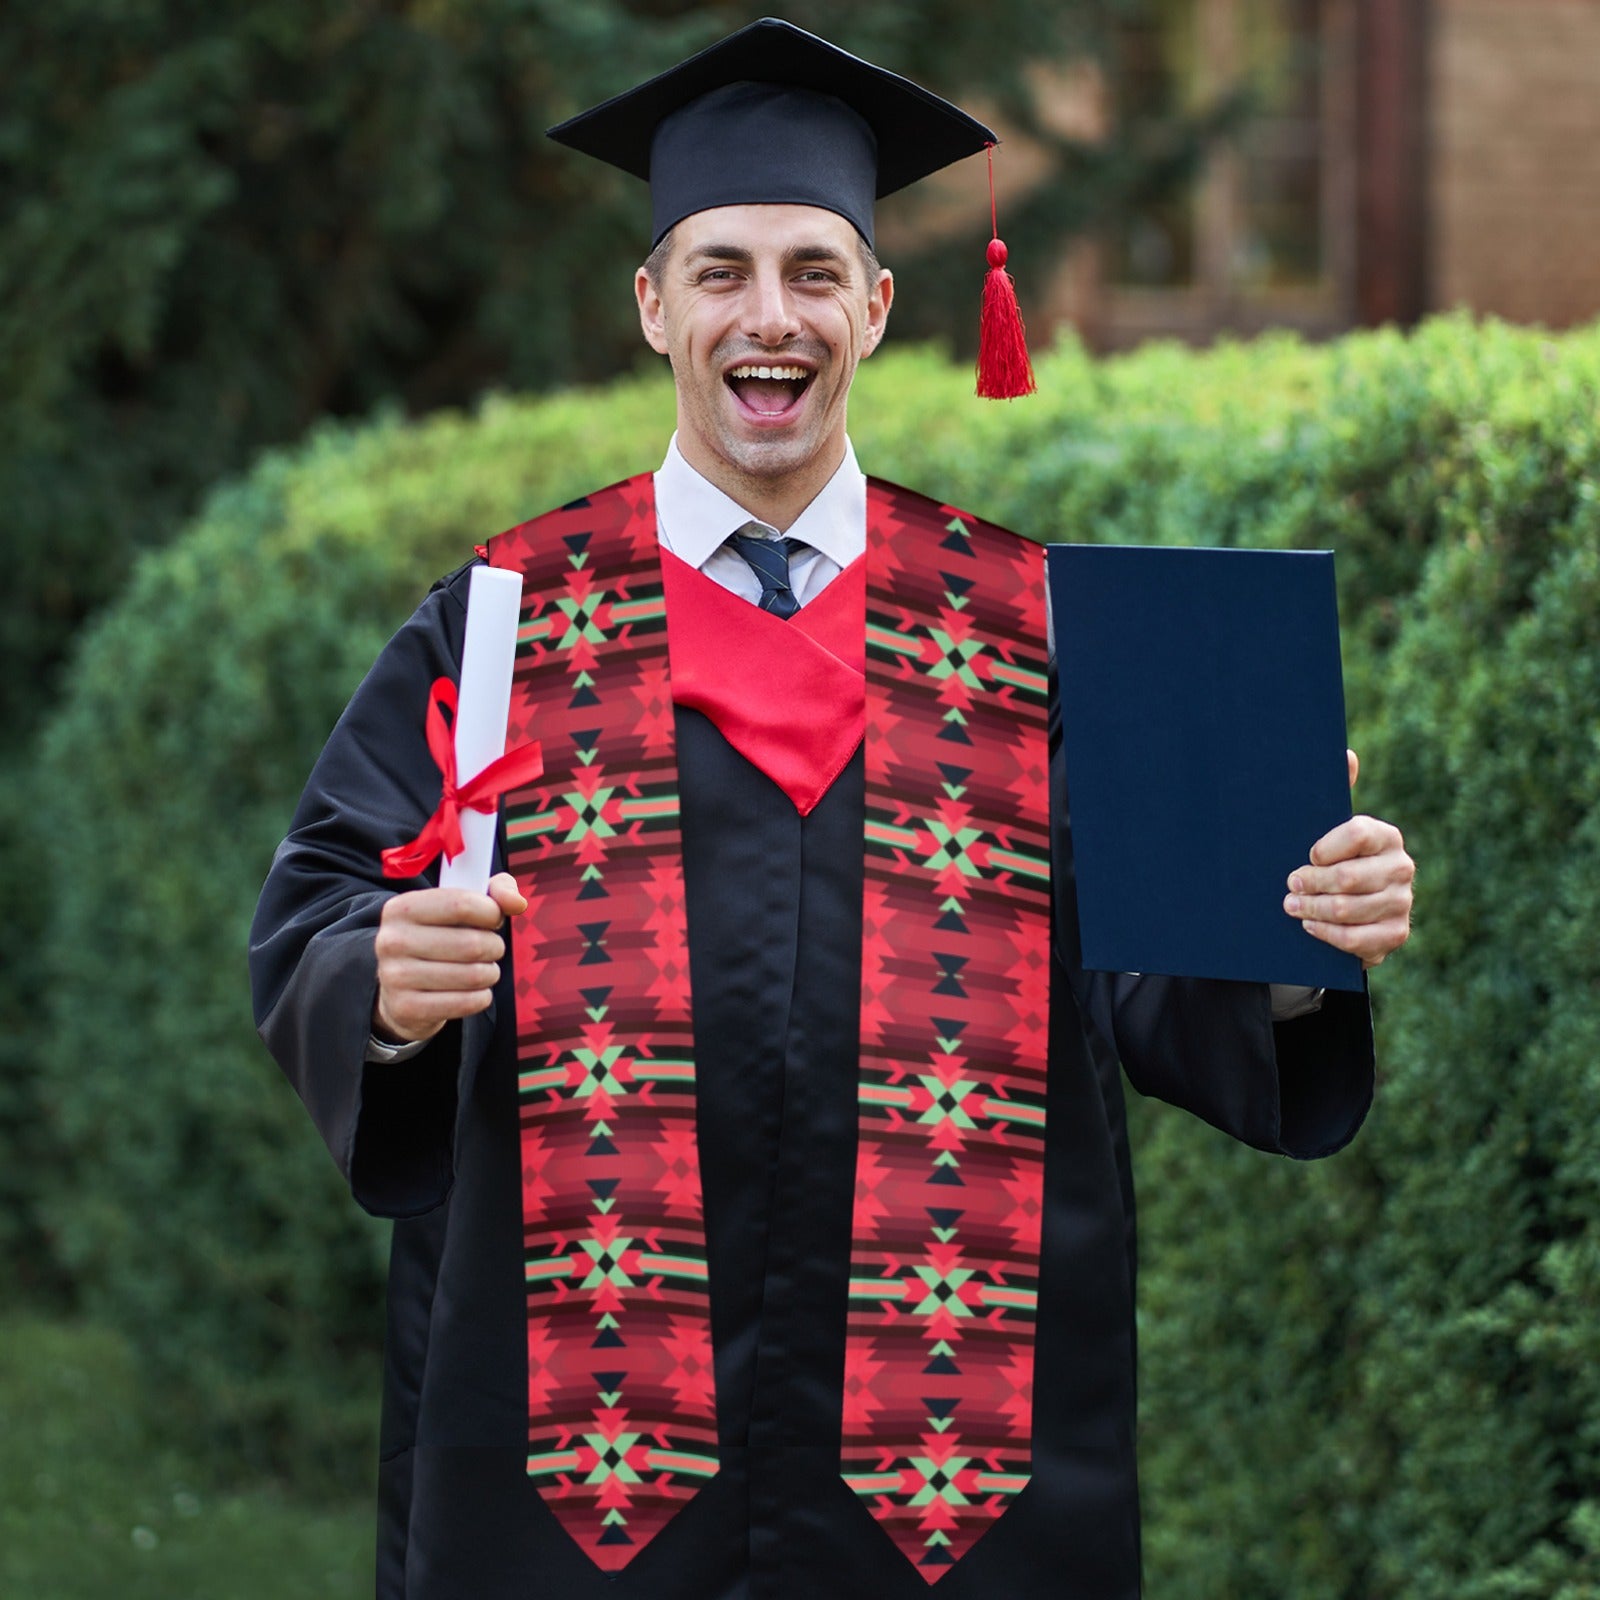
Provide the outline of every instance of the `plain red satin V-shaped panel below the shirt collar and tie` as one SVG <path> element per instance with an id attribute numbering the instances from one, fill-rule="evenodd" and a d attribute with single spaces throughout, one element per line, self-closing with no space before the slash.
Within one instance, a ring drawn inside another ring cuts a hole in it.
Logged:
<path id="1" fill-rule="evenodd" d="M 806 816 L 867 723 L 867 565 L 784 621 L 661 552 L 672 701 L 704 712 Z"/>

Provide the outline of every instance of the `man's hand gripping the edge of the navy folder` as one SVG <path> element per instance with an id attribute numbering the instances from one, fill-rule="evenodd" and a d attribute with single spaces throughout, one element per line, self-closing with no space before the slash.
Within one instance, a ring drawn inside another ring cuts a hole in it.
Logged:
<path id="1" fill-rule="evenodd" d="M 1350 787 L 1360 762 L 1354 750 Z M 1411 936 L 1416 862 L 1400 829 L 1374 816 L 1352 816 L 1310 846 L 1310 861 L 1290 874 L 1283 909 L 1306 931 L 1376 966 Z"/>

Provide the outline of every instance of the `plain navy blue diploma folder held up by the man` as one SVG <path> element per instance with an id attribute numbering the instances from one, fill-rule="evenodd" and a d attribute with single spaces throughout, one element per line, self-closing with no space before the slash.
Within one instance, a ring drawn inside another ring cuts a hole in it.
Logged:
<path id="1" fill-rule="evenodd" d="M 1083 965 L 1360 989 L 1283 910 L 1350 816 L 1333 555 L 1048 560 Z"/>

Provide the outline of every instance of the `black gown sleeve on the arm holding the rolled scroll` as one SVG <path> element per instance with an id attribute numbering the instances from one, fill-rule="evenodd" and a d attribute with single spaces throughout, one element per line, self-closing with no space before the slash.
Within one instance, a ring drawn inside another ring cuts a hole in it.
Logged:
<path id="1" fill-rule="evenodd" d="M 459 1078 L 493 1026 L 470 1018 L 406 1061 L 366 1061 L 379 914 L 390 894 L 426 886 L 386 878 L 379 858 L 438 802 L 427 691 L 459 678 L 469 570 L 434 587 L 328 736 L 250 931 L 256 1027 L 376 1216 L 419 1216 L 446 1198 Z"/>

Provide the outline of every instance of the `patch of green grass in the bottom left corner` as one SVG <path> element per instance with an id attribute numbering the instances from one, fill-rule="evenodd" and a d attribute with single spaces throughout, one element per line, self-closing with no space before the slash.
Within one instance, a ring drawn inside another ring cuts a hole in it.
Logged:
<path id="1" fill-rule="evenodd" d="M 373 1509 L 213 1488 L 110 1330 L 0 1318 L 0 1595 L 365 1600 Z"/>

